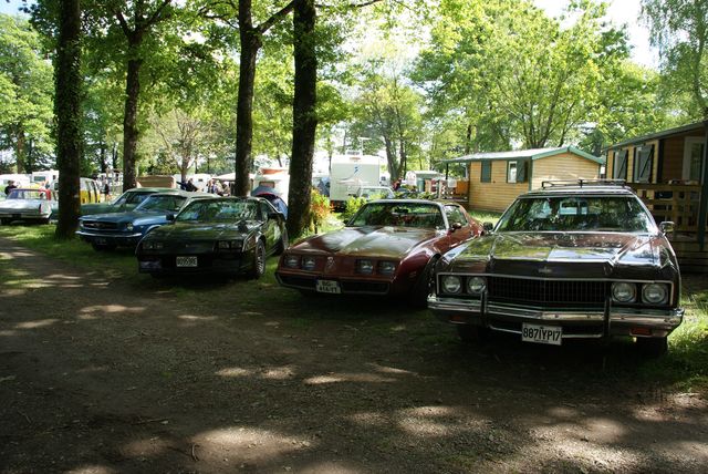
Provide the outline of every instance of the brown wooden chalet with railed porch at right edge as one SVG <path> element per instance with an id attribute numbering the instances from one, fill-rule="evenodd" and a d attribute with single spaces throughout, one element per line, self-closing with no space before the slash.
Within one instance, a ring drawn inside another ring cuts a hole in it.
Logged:
<path id="1" fill-rule="evenodd" d="M 708 271 L 708 122 L 638 136 L 607 148 L 607 178 L 625 179 L 657 223 L 670 220 L 669 239 L 681 270 Z"/>

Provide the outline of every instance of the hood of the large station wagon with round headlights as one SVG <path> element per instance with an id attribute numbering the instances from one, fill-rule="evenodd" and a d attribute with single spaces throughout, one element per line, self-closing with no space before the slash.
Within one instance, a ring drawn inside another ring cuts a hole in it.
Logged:
<path id="1" fill-rule="evenodd" d="M 628 267 L 675 266 L 664 236 L 624 233 L 499 233 L 446 255 L 455 270 L 549 277 L 608 276 Z"/>

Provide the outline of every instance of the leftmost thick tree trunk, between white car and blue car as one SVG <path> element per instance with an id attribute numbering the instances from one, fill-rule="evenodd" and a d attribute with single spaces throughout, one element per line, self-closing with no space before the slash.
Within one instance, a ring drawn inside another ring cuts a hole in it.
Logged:
<path id="1" fill-rule="evenodd" d="M 59 167 L 58 238 L 73 238 L 79 224 L 79 174 L 82 154 L 81 113 L 81 8 L 80 0 L 60 3 L 55 59 L 56 163 Z"/>

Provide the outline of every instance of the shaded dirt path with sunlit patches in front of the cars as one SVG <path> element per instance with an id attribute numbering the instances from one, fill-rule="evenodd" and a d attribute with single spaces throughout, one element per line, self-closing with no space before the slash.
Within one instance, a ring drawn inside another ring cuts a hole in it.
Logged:
<path id="1" fill-rule="evenodd" d="M 603 370 L 622 348 L 465 348 L 381 301 L 253 281 L 180 293 L 2 239 L 0 278 L 2 473 L 708 465 L 706 402 Z"/>

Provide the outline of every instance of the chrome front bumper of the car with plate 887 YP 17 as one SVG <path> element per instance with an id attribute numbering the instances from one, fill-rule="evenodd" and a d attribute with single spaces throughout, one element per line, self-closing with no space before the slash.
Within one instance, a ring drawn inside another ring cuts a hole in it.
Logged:
<path id="1" fill-rule="evenodd" d="M 601 338 L 604 336 L 606 319 L 610 322 L 610 334 L 631 336 L 632 330 L 644 328 L 652 330 L 652 336 L 665 337 L 684 320 L 684 309 L 642 309 L 611 307 L 608 315 L 603 310 L 582 309 L 543 309 L 527 308 L 513 305 L 487 303 L 482 308 L 481 300 L 428 297 L 428 308 L 440 320 L 454 324 L 485 326 L 491 329 L 521 333 L 508 323 L 537 323 L 592 328 L 575 333 L 563 333 L 563 338 Z"/>

